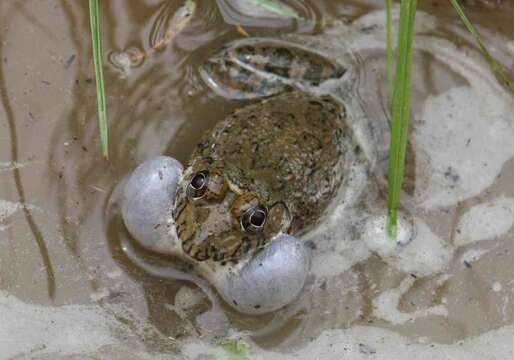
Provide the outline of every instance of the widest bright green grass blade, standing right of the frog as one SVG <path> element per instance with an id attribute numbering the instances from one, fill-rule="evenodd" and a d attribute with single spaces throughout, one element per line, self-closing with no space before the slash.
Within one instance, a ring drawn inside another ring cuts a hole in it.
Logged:
<path id="1" fill-rule="evenodd" d="M 416 0 L 402 0 L 400 5 L 393 119 L 389 148 L 389 197 L 387 204 L 387 233 L 392 239 L 396 238 L 397 233 L 397 210 L 400 203 L 407 148 L 411 98 L 412 39 L 414 37 L 416 5 Z"/>

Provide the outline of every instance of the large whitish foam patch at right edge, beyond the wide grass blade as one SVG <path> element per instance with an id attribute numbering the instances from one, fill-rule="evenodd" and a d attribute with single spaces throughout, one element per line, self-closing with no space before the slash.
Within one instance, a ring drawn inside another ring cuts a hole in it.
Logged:
<path id="1" fill-rule="evenodd" d="M 449 206 L 478 195 L 514 155 L 513 102 L 482 81 L 470 85 L 425 102 L 423 123 L 413 134 L 430 163 L 426 187 L 416 194 L 423 207 Z"/>

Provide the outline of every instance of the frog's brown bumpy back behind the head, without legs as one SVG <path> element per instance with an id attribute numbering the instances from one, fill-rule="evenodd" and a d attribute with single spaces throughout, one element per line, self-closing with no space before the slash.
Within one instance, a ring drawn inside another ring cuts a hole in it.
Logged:
<path id="1" fill-rule="evenodd" d="M 222 161 L 232 184 L 284 202 L 298 233 L 319 219 L 341 185 L 346 153 L 358 150 L 345 119 L 330 96 L 277 95 L 218 123 L 193 158 Z"/>

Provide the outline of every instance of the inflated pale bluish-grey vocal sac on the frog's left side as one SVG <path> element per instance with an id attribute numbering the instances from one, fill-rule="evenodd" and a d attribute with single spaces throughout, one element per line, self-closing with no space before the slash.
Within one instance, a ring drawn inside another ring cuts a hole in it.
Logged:
<path id="1" fill-rule="evenodd" d="M 139 165 L 123 189 L 121 214 L 138 243 L 159 253 L 172 253 L 176 244 L 171 214 L 182 165 L 158 156 Z"/>

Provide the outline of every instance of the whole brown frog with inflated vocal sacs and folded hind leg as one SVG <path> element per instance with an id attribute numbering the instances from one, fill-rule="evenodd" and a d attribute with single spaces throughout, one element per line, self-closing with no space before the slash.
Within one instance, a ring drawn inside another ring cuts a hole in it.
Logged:
<path id="1" fill-rule="evenodd" d="M 319 91 L 332 82 L 344 92 L 350 70 L 283 41 L 229 44 L 202 77 L 225 96 L 264 98 L 208 131 L 184 171 L 164 156 L 141 164 L 122 199 L 129 232 L 192 264 L 241 312 L 293 301 L 309 271 L 300 237 L 354 186 L 356 169 L 366 174 L 373 165 L 351 102 Z"/>

